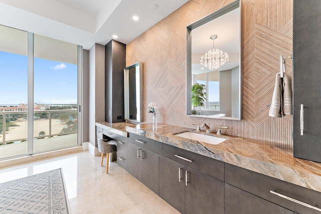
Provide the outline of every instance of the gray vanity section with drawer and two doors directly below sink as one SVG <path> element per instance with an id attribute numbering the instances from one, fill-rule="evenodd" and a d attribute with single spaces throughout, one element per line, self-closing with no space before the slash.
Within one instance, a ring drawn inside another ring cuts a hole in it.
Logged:
<path id="1" fill-rule="evenodd" d="M 224 182 L 198 171 L 224 180 L 223 162 L 163 143 L 159 152 L 159 196 L 181 213 L 224 213 Z"/>

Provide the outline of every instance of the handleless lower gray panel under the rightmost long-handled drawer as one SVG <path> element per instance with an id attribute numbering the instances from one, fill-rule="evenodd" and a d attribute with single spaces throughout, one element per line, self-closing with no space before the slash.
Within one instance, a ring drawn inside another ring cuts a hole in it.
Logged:
<path id="1" fill-rule="evenodd" d="M 235 213 L 293 214 L 293 211 L 225 183 L 225 214 Z"/>

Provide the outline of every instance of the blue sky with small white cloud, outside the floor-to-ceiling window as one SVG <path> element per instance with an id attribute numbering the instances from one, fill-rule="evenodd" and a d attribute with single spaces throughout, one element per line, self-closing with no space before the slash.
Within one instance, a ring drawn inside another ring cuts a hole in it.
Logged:
<path id="1" fill-rule="evenodd" d="M 0 105 L 27 103 L 27 56 L 0 51 Z M 34 59 L 34 102 L 77 103 L 77 65 Z"/>

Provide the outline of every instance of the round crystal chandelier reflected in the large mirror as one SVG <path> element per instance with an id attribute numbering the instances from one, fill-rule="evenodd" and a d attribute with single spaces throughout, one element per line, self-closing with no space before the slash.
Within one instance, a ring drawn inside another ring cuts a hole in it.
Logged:
<path id="1" fill-rule="evenodd" d="M 210 38 L 213 40 L 213 50 L 209 50 L 205 56 L 201 57 L 200 63 L 206 68 L 218 69 L 229 60 L 229 55 L 219 49 L 214 49 L 214 40 L 217 38 L 217 35 L 212 35 Z"/>

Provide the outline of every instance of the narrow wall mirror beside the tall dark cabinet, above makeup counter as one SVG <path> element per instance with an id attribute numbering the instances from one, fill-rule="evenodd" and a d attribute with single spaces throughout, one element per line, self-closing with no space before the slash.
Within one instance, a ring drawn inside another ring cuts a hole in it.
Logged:
<path id="1" fill-rule="evenodd" d="M 142 90 L 142 63 L 124 68 L 125 120 L 143 121 Z"/>

